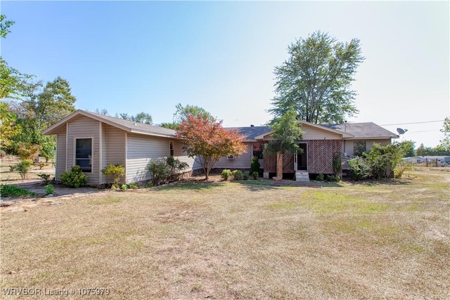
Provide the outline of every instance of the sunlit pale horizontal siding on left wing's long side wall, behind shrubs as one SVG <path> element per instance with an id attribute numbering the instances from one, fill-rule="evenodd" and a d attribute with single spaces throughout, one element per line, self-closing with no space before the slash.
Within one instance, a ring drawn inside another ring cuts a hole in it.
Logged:
<path id="1" fill-rule="evenodd" d="M 127 136 L 127 183 L 150 179 L 148 162 L 152 158 L 169 156 L 169 141 L 172 140 L 135 134 Z"/>

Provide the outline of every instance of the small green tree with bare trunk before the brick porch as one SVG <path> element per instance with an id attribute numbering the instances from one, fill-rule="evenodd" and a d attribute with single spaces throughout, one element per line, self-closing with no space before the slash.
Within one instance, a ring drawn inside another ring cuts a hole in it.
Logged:
<path id="1" fill-rule="evenodd" d="M 283 153 L 302 153 L 302 149 L 298 145 L 298 141 L 302 139 L 303 131 L 300 122 L 297 120 L 297 113 L 291 107 L 281 117 L 274 118 L 269 123 L 270 128 L 274 131 L 271 136 L 274 141 L 269 141 L 264 147 L 264 155 L 277 155 L 277 177 L 281 179 L 283 176 Z"/>

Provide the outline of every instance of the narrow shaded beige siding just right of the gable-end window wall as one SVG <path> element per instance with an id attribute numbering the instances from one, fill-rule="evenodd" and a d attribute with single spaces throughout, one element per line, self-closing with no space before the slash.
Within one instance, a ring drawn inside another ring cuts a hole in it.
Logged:
<path id="1" fill-rule="evenodd" d="M 122 129 L 102 124 L 102 163 L 101 169 L 108 164 L 123 164 L 126 167 L 125 145 L 127 133 Z M 101 183 L 113 182 L 112 176 L 100 174 Z"/>

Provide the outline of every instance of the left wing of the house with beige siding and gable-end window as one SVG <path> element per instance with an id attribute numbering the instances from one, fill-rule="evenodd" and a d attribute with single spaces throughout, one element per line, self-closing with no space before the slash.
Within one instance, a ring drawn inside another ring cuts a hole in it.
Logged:
<path id="1" fill-rule="evenodd" d="M 56 181 L 65 170 L 79 165 L 89 185 L 112 182 L 101 172 L 108 164 L 124 165 L 124 183 L 146 181 L 150 159 L 169 155 L 191 170 L 200 167 L 183 151 L 175 131 L 160 126 L 77 110 L 42 133 L 56 135 Z"/>

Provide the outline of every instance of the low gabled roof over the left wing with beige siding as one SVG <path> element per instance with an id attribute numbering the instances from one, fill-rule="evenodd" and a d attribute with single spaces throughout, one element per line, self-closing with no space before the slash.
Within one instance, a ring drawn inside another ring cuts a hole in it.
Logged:
<path id="1" fill-rule="evenodd" d="M 163 136 L 167 138 L 174 138 L 176 133 L 176 131 L 174 131 L 173 129 L 167 129 L 160 126 L 143 124 L 139 122 L 128 121 L 126 119 L 119 119 L 115 117 L 100 115 L 96 114 L 95 112 L 85 112 L 84 110 L 77 110 L 75 112 L 72 112 L 72 114 L 68 115 L 64 119 L 60 120 L 60 122 L 42 131 L 42 134 L 55 134 L 57 131 L 63 128 L 63 126 L 65 126 L 67 122 L 70 122 L 71 119 L 79 117 L 80 115 L 89 117 L 91 119 L 96 119 L 99 122 L 103 122 L 110 126 L 117 127 L 129 133 L 139 133 L 148 136 Z"/>

